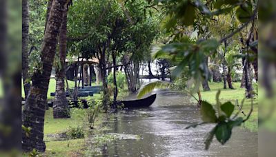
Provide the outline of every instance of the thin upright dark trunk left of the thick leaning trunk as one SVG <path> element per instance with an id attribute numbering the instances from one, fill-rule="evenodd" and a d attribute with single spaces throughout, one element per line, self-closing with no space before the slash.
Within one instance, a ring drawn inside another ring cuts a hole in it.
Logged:
<path id="1" fill-rule="evenodd" d="M 29 79 L 29 54 L 28 54 L 28 39 L 29 39 L 29 4 L 28 0 L 22 1 L 22 77 L 25 98 L 30 90 Z"/>

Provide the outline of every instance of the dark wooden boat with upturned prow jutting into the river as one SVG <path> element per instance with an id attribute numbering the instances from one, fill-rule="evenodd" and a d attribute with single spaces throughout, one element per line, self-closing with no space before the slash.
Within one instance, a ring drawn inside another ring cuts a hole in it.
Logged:
<path id="1" fill-rule="evenodd" d="M 131 101 L 121 101 L 124 104 L 124 108 L 137 108 L 137 107 L 149 107 L 155 102 L 156 94 L 152 94 L 147 98 L 142 98 L 138 100 L 131 100 Z"/>

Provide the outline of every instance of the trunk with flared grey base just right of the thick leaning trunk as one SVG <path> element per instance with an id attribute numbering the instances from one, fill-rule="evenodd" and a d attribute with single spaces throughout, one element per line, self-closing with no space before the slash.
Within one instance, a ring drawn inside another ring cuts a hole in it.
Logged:
<path id="1" fill-rule="evenodd" d="M 61 30 L 59 32 L 59 62 L 60 67 L 56 70 L 56 94 L 52 105 L 54 118 L 70 118 L 70 109 L 66 98 L 64 78 L 66 67 L 66 34 L 67 34 L 67 10 L 64 10 Z"/>

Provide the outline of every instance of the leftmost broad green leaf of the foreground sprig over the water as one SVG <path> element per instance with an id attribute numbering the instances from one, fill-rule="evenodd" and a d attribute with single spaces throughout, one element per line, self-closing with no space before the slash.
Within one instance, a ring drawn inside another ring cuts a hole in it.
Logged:
<path id="1" fill-rule="evenodd" d="M 215 114 L 215 109 L 210 103 L 206 101 L 202 101 L 202 105 L 200 108 L 200 114 L 202 121 L 206 123 L 215 123 L 217 122 L 217 116 Z"/>

